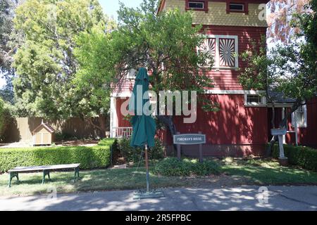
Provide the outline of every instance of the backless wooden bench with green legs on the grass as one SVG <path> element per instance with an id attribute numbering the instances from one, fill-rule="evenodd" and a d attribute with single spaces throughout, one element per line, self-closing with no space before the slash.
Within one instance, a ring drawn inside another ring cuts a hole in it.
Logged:
<path id="1" fill-rule="evenodd" d="M 79 167 L 80 163 L 77 164 L 66 164 L 66 165 L 51 165 L 51 166 L 39 166 L 39 167 L 15 167 L 14 169 L 10 169 L 9 173 L 9 182 L 8 187 L 11 187 L 11 181 L 13 177 L 16 177 L 19 181 L 19 173 L 29 173 L 29 172 L 43 172 L 43 179 L 42 184 L 45 183 L 45 176 L 49 177 L 51 181 L 51 176 L 49 176 L 49 172 L 58 171 L 63 169 L 74 169 L 75 176 L 74 176 L 74 183 L 76 182 L 76 177 L 79 178 Z"/>

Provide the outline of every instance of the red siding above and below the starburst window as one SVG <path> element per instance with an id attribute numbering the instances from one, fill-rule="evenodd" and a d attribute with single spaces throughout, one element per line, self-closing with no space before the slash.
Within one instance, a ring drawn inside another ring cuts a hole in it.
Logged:
<path id="1" fill-rule="evenodd" d="M 266 35 L 266 27 L 230 27 L 230 26 L 207 26 L 204 25 L 201 32 L 213 35 L 236 35 L 238 37 L 239 55 L 251 47 L 251 40 L 261 41 L 261 36 Z M 245 66 L 239 57 L 239 67 Z M 212 70 L 209 75 L 213 77 L 215 87 L 220 90 L 242 90 L 238 82 L 239 72 L 236 70 Z"/>

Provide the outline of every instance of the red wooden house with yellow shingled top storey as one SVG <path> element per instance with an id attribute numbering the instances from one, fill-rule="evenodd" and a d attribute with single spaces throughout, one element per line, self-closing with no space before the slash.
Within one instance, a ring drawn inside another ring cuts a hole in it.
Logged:
<path id="1" fill-rule="evenodd" d="M 202 24 L 206 34 L 204 49 L 213 51 L 214 68 L 209 72 L 213 77 L 214 88 L 206 90 L 213 101 L 220 104 L 218 113 L 197 111 L 197 122 L 183 124 L 175 120 L 178 131 L 182 134 L 206 134 L 207 144 L 204 155 L 243 156 L 261 155 L 271 138 L 271 108 L 261 91 L 244 90 L 238 82 L 238 68 L 243 67 L 238 54 L 251 46 L 251 39 L 260 41 L 266 35 L 267 23 L 263 10 L 268 0 L 162 0 L 159 12 L 168 8 L 179 8 L 180 11 L 194 11 L 194 24 Z M 234 54 L 237 53 L 237 54 Z M 111 136 L 130 136 L 132 128 L 123 118 L 120 108 L 125 108 L 133 86 L 133 71 L 120 83 L 111 96 Z M 316 99 L 305 105 L 293 115 L 299 121 L 298 139 L 301 144 L 317 145 Z M 292 102 L 281 101 L 276 120 L 282 118 Z M 284 113 L 284 114 L 283 114 Z M 292 125 L 293 124 L 293 125 Z M 294 143 L 294 121 L 290 121 L 286 143 Z M 164 134 L 164 133 L 161 133 Z M 170 135 L 162 137 L 167 146 L 172 145 Z M 197 155 L 195 146 L 185 146 L 185 155 Z"/>

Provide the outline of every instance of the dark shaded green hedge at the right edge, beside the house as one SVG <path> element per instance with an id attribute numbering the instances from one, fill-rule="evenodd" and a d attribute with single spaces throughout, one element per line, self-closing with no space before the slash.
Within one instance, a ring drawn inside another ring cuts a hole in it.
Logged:
<path id="1" fill-rule="evenodd" d="M 317 171 L 317 150 L 306 146 L 284 145 L 284 153 L 291 165 L 299 165 L 304 169 Z M 273 157 L 278 158 L 278 144 L 273 147 Z"/>

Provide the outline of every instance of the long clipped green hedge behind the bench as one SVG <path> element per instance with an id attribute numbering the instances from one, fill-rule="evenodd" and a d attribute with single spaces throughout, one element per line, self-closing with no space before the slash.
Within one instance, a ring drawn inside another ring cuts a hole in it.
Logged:
<path id="1" fill-rule="evenodd" d="M 81 169 L 102 168 L 110 165 L 114 139 L 105 139 L 98 146 L 63 146 L 0 149 L 0 172 L 14 167 L 80 163 Z"/>

